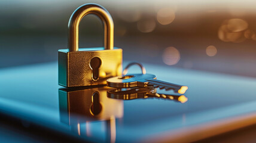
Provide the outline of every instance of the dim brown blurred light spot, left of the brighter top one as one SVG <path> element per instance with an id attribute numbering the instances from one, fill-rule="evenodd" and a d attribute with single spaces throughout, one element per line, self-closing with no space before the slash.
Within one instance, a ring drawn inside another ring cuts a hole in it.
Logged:
<path id="1" fill-rule="evenodd" d="M 153 32 L 153 30 L 156 28 L 156 22 L 152 18 L 147 20 L 140 20 L 137 23 L 138 30 L 143 33 Z"/>

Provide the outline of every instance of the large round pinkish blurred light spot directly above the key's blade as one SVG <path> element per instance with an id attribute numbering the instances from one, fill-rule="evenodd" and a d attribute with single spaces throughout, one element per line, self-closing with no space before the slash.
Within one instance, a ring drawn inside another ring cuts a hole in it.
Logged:
<path id="1" fill-rule="evenodd" d="M 178 61 L 181 58 L 181 55 L 179 54 L 178 49 L 174 48 L 173 46 L 170 46 L 166 49 L 164 49 L 163 52 L 163 63 L 167 65 L 175 65 L 178 63 Z"/>

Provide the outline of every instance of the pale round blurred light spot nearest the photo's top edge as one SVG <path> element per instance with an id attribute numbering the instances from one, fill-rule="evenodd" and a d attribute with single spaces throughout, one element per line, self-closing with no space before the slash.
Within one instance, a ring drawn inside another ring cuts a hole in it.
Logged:
<path id="1" fill-rule="evenodd" d="M 157 12 L 157 21 L 162 24 L 170 24 L 175 19 L 175 11 L 171 8 L 161 8 Z"/>

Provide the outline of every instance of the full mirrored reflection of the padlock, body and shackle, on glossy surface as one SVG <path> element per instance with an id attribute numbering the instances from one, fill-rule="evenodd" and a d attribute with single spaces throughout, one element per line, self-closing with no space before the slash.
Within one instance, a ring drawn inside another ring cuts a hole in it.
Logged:
<path id="1" fill-rule="evenodd" d="M 99 142 L 115 142 L 115 119 L 123 117 L 123 101 L 108 98 L 106 86 L 59 89 L 60 121 L 78 135 L 96 136 Z M 96 122 L 95 122 L 96 121 Z M 105 135 L 93 135 L 93 125 L 104 123 Z M 92 126 L 91 126 L 92 125 Z"/>

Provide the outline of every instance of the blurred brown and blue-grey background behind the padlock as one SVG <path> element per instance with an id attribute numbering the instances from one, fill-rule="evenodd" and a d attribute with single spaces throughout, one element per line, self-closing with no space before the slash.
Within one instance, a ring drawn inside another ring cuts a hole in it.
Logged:
<path id="1" fill-rule="evenodd" d="M 82 4 L 105 7 L 125 61 L 256 77 L 256 1 L 0 1 L 0 68 L 57 61 Z M 80 23 L 80 47 L 103 46 L 102 23 Z M 146 67 L 147 68 L 147 67 Z"/>

